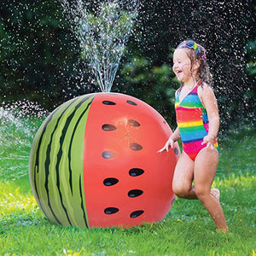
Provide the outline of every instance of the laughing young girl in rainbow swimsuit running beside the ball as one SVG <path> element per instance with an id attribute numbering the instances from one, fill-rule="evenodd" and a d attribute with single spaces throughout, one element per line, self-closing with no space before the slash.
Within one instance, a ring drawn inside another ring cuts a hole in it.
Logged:
<path id="1" fill-rule="evenodd" d="M 229 231 L 219 203 L 218 189 L 211 189 L 218 166 L 218 104 L 212 88 L 206 50 L 184 41 L 173 54 L 173 72 L 181 82 L 176 91 L 177 129 L 159 152 L 168 151 L 181 138 L 183 153 L 177 160 L 172 189 L 186 199 L 199 199 L 218 230 Z M 194 180 L 195 185 L 192 185 Z"/>

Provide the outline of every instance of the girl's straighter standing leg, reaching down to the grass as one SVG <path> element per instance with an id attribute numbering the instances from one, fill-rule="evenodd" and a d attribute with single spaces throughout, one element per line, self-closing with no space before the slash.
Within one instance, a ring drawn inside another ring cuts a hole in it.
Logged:
<path id="1" fill-rule="evenodd" d="M 211 186 L 218 166 L 216 148 L 203 148 L 195 158 L 195 194 L 211 215 L 218 230 L 228 231 L 224 212 L 217 198 L 211 195 Z"/>

